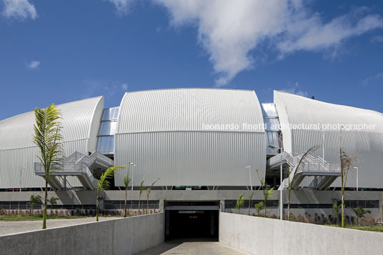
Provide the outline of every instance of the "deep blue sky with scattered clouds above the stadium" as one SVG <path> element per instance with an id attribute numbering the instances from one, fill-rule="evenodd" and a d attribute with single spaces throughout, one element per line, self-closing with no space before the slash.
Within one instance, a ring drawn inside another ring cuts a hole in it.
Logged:
<path id="1" fill-rule="evenodd" d="M 0 12 L 0 119 L 180 87 L 383 111 L 383 1 L 0 0 Z"/>

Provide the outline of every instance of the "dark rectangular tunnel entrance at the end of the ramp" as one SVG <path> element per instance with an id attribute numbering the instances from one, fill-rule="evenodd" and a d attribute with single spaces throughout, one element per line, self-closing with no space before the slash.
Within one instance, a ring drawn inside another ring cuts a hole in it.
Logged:
<path id="1" fill-rule="evenodd" d="M 218 239 L 218 201 L 165 202 L 165 240 Z"/>

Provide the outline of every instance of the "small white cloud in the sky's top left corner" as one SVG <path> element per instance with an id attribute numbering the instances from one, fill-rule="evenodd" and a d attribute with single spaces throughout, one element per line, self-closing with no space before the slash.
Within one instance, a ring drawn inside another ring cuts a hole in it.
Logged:
<path id="1" fill-rule="evenodd" d="M 8 19 L 24 20 L 26 18 L 36 19 L 37 13 L 34 5 L 29 0 L 3 0 L 3 16 Z"/>

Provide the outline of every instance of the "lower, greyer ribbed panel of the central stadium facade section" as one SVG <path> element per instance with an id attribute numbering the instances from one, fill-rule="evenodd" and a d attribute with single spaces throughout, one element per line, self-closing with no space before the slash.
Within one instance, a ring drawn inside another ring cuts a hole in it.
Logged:
<path id="1" fill-rule="evenodd" d="M 116 165 L 133 167 L 134 186 L 141 179 L 156 186 L 249 186 L 264 176 L 264 133 L 164 131 L 116 134 Z M 116 171 L 116 186 L 124 186 L 127 169 Z"/>

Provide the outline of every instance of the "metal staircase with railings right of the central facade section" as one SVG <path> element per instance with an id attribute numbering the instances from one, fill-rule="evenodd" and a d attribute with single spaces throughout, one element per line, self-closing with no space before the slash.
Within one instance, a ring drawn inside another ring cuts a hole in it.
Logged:
<path id="1" fill-rule="evenodd" d="M 314 179 L 308 186 L 306 186 L 306 188 L 324 190 L 327 189 L 341 174 L 340 164 L 329 163 L 324 161 L 320 156 L 314 157 L 310 154 L 307 154 L 302 163 L 298 166 L 302 156 L 302 154 L 292 156 L 286 151 L 283 151 L 282 154 L 277 154 L 267 160 L 269 169 L 278 169 L 281 164 L 290 166 L 292 169 L 289 177 L 282 181 L 282 187 L 280 186 L 279 189 L 287 189 L 289 184 L 292 186 L 292 189 L 298 189 L 299 185 L 302 184 L 302 181 L 306 177 L 314 176 Z M 294 175 L 295 179 L 292 181 Z"/>

